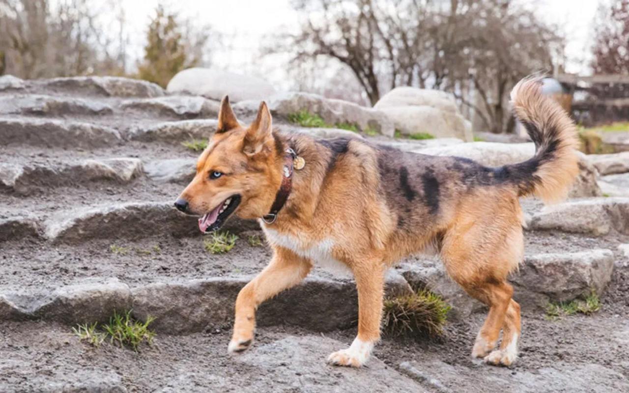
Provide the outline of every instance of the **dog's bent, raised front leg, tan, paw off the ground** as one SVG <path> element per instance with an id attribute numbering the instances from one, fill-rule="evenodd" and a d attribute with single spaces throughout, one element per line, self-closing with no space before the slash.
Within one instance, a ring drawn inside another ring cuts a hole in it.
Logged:
<path id="1" fill-rule="evenodd" d="M 276 296 L 308 275 L 311 262 L 285 248 L 275 248 L 267 267 L 238 293 L 233 336 L 228 351 L 242 352 L 253 343 L 255 310 L 269 297 Z"/>

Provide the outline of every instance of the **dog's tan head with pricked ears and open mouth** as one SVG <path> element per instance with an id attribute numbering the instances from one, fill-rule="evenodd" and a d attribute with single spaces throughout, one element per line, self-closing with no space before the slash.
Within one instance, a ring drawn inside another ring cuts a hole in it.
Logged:
<path id="1" fill-rule="evenodd" d="M 199 229 L 216 231 L 232 214 L 260 218 L 269 213 L 282 182 L 284 151 L 274 137 L 271 114 L 265 102 L 245 128 L 238 123 L 228 97 L 221 101 L 218 129 L 201 153 L 196 175 L 181 193 L 175 207 L 202 216 Z"/>

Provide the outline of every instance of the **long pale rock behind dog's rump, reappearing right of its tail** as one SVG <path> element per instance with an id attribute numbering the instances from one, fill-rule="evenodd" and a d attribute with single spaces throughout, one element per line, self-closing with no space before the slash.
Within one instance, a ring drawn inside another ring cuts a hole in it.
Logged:
<path id="1" fill-rule="evenodd" d="M 535 145 L 533 143 L 472 142 L 426 148 L 415 152 L 465 157 L 489 167 L 499 167 L 509 163 L 523 162 L 533 157 Z M 569 192 L 569 197 L 601 196 L 601 189 L 596 182 L 596 169 L 587 161 L 586 155 L 580 152 L 577 154 L 579 155 L 579 175 Z"/>

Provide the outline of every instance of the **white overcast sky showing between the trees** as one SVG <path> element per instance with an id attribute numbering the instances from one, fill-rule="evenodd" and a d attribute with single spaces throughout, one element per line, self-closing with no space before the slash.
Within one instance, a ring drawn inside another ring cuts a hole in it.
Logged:
<path id="1" fill-rule="evenodd" d="M 568 72 L 588 71 L 592 19 L 599 0 L 520 0 L 535 9 L 549 23 L 560 25 L 567 36 L 565 54 L 569 58 Z M 162 3 L 184 18 L 210 25 L 214 30 L 234 37 L 231 50 L 214 58 L 218 67 L 251 67 L 252 56 L 265 35 L 281 26 L 294 26 L 296 14 L 289 0 L 125 0 L 130 24 L 130 50 L 142 56 L 142 47 L 150 15 Z M 243 72 L 253 72 L 243 69 Z M 273 80 L 272 80 L 273 82 Z"/>

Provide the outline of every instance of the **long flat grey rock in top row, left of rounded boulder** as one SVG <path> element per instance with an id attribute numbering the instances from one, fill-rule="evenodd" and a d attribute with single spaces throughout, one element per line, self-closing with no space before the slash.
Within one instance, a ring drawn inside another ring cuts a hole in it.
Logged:
<path id="1" fill-rule="evenodd" d="M 40 85 L 55 93 L 105 97 L 161 97 L 164 90 L 146 80 L 122 77 L 69 77 L 44 79 Z"/>

